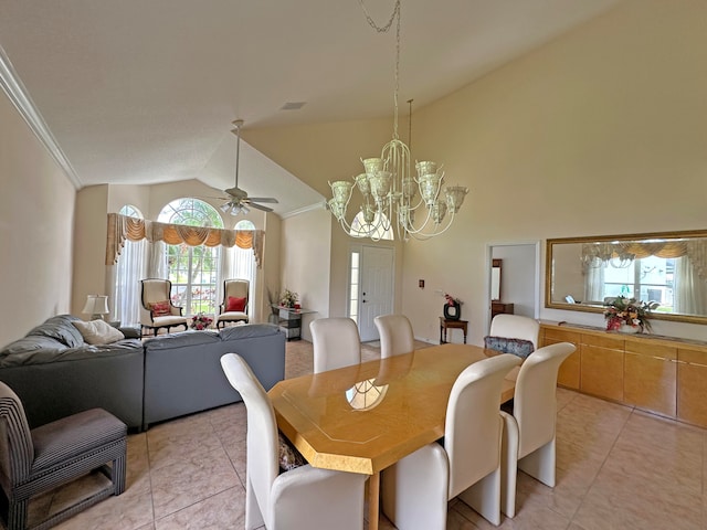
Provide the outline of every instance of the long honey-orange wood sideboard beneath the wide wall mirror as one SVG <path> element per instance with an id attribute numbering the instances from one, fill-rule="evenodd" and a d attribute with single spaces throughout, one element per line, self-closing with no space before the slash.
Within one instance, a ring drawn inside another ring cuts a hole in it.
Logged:
<path id="1" fill-rule="evenodd" d="M 707 343 L 555 322 L 540 325 L 539 342 L 577 347 L 560 386 L 707 427 Z"/>

